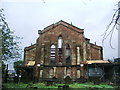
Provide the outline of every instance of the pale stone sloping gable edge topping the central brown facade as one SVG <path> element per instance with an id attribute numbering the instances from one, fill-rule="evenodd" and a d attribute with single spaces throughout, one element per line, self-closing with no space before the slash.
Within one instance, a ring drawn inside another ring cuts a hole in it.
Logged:
<path id="1" fill-rule="evenodd" d="M 72 29 L 72 30 L 74 30 L 74 31 L 77 31 L 77 32 L 79 32 L 79 33 L 83 33 L 83 32 L 84 32 L 84 29 L 80 29 L 80 28 L 78 28 L 78 27 L 76 27 L 76 26 L 74 26 L 74 25 L 72 25 L 72 24 L 69 24 L 69 23 L 67 23 L 67 22 L 65 22 L 65 21 L 63 21 L 63 20 L 60 20 L 59 22 L 57 22 L 57 23 L 55 23 L 55 24 L 51 24 L 51 25 L 45 27 L 45 28 L 41 31 L 41 33 L 44 33 L 44 32 L 46 32 L 46 31 L 49 31 L 49 30 L 53 29 L 54 27 L 56 27 L 56 26 L 58 26 L 58 25 L 63 25 L 63 26 L 65 26 L 65 27 L 70 28 L 70 29 Z"/>

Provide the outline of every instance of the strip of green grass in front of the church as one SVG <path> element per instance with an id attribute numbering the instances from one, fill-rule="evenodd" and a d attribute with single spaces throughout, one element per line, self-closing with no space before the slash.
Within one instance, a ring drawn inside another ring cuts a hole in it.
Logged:
<path id="1" fill-rule="evenodd" d="M 58 86 L 61 85 L 65 85 L 65 84 L 54 84 L 52 86 L 46 86 L 44 83 L 29 83 L 29 84 L 25 84 L 25 83 L 3 83 L 3 87 L 4 88 L 58 88 Z M 73 84 L 69 84 L 70 88 L 115 88 L 114 86 L 111 85 L 107 85 L 105 83 L 100 84 L 100 85 L 94 85 L 93 83 L 89 82 L 89 83 L 73 83 Z"/>

